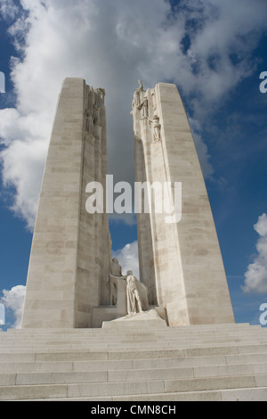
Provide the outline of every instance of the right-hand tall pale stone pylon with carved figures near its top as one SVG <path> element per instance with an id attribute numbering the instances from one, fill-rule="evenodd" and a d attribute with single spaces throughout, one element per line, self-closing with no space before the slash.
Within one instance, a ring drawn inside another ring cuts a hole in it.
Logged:
<path id="1" fill-rule="evenodd" d="M 171 183 L 165 200 L 174 209 L 182 183 L 182 218 L 166 223 L 157 213 L 137 214 L 141 281 L 150 304 L 166 308 L 169 325 L 234 323 L 222 254 L 198 154 L 181 96 L 158 83 L 134 93 L 135 180 Z"/>

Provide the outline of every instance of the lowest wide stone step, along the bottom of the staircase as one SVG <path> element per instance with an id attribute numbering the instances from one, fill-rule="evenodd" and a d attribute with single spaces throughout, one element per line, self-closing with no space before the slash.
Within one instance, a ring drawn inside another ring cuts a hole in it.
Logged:
<path id="1" fill-rule="evenodd" d="M 75 384 L 15 385 L 1 388 L 0 400 L 20 400 L 36 398 L 98 398 L 117 396 L 120 400 L 131 396 L 151 399 L 151 395 L 185 393 L 194 391 L 256 389 L 267 385 L 267 374 L 242 375 L 234 377 L 208 377 L 182 380 L 155 380 L 146 382 L 93 382 Z M 265 392 L 266 394 L 266 392 Z"/>

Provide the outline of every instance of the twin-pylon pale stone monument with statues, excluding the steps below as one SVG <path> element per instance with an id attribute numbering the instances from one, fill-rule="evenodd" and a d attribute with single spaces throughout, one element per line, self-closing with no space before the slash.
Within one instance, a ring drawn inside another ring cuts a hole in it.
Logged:
<path id="1" fill-rule="evenodd" d="M 63 82 L 36 215 L 22 328 L 109 327 L 120 320 L 234 323 L 205 181 L 173 84 L 145 91 L 139 82 L 131 112 L 135 180 L 171 185 L 164 196 L 173 211 L 171 222 L 155 210 L 162 197 L 151 193 L 150 211 L 137 214 L 140 283 L 132 267 L 122 275 L 119 260 L 112 259 L 109 214 L 90 213 L 85 205 L 89 183 L 101 184 L 106 192 L 104 98 L 104 89 L 86 86 L 82 78 Z M 182 185 L 180 212 L 175 185 Z"/>

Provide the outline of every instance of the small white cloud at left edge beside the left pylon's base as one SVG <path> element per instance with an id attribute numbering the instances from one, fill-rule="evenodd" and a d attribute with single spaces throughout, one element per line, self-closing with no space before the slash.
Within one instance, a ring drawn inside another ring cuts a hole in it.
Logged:
<path id="1" fill-rule="evenodd" d="M 6 310 L 11 310 L 14 316 L 14 323 L 12 328 L 20 329 L 21 318 L 24 307 L 26 287 L 17 285 L 12 290 L 3 290 L 3 297 L 1 303 L 4 304 Z"/>

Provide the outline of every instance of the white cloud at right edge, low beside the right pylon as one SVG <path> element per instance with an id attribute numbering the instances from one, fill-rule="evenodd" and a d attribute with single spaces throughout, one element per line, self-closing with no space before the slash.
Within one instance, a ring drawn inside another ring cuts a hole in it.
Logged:
<path id="1" fill-rule="evenodd" d="M 253 263 L 247 267 L 245 274 L 244 292 L 266 293 L 267 292 L 267 215 L 258 218 L 254 226 L 260 235 L 257 243 L 257 255 Z"/>

